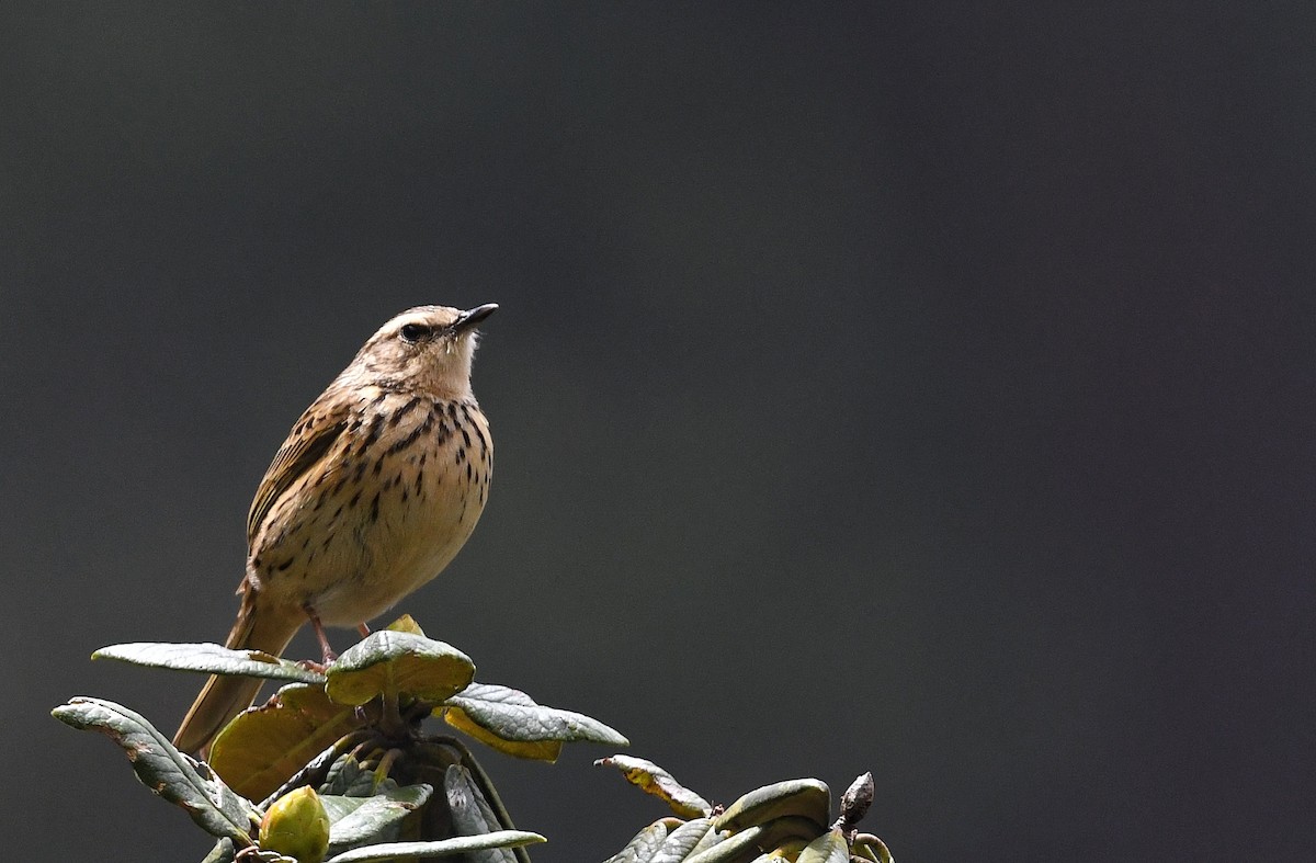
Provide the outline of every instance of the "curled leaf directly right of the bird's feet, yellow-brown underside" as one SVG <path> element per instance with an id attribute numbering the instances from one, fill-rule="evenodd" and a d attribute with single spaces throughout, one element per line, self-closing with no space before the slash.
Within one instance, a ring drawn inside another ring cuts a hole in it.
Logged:
<path id="1" fill-rule="evenodd" d="M 471 658 L 451 645 L 382 629 L 338 656 L 329 667 L 325 691 L 338 704 L 350 705 L 403 692 L 442 701 L 461 692 L 474 675 Z"/>

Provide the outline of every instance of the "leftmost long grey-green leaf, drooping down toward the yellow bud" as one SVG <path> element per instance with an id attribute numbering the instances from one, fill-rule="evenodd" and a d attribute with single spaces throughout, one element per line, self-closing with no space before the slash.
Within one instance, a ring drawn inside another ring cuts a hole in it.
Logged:
<path id="1" fill-rule="evenodd" d="M 261 820 L 255 806 L 234 795 L 211 768 L 174 749 L 142 716 L 100 699 L 72 699 L 51 714 L 75 729 L 100 731 L 122 746 L 142 784 L 183 806 L 211 835 L 253 845 L 251 826 Z"/>

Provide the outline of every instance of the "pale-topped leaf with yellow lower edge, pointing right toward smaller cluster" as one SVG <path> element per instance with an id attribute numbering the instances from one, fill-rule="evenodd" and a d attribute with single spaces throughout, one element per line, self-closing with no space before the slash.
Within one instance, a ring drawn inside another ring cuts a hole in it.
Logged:
<path id="1" fill-rule="evenodd" d="M 472 683 L 454 695 L 441 708 L 443 720 L 467 731 L 483 743 L 521 758 L 555 760 L 557 751 L 532 754 L 529 747 L 508 743 L 542 743 L 592 741 L 611 746 L 629 746 L 630 741 L 597 720 L 582 713 L 559 710 L 536 704 L 530 696 L 508 687 Z M 438 710 L 436 710 L 437 713 Z M 479 734 L 474 729 L 483 729 Z"/>

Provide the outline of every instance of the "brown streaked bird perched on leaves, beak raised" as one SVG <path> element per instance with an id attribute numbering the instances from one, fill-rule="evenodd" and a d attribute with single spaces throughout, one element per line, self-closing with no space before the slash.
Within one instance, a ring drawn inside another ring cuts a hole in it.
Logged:
<path id="1" fill-rule="evenodd" d="M 365 631 L 462 549 L 494 471 L 471 359 L 495 309 L 403 312 L 305 409 L 251 501 L 228 647 L 279 655 L 309 620 L 328 662 L 322 625 Z M 208 750 L 261 683 L 212 676 L 174 745 Z"/>

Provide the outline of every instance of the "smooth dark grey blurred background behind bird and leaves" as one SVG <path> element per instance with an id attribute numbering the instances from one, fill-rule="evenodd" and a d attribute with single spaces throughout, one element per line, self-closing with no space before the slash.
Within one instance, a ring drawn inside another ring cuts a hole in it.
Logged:
<path id="1" fill-rule="evenodd" d="M 986 5 L 5 4 L 4 856 L 204 854 L 49 710 L 172 730 L 88 654 L 222 639 L 303 407 L 486 301 L 400 609 L 482 679 L 907 862 L 1309 855 L 1313 7 Z M 484 759 L 537 859 L 662 814 L 604 754 Z"/>

